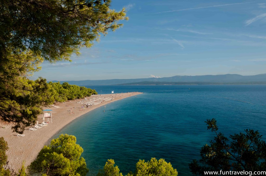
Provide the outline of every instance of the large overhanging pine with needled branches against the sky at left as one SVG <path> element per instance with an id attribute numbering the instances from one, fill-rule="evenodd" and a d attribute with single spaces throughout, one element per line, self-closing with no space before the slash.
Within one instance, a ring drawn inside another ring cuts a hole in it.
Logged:
<path id="1" fill-rule="evenodd" d="M 29 77 L 43 61 L 71 61 L 81 47 L 122 27 L 125 9 L 110 7 L 111 0 L 0 0 L 0 120 L 18 133 L 36 120 L 49 85 Z"/>

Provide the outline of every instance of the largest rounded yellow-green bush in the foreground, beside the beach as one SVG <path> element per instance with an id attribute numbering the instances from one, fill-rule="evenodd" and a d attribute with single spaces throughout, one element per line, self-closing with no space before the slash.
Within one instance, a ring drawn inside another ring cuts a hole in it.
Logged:
<path id="1" fill-rule="evenodd" d="M 76 175 L 85 176 L 85 159 L 81 156 L 83 149 L 76 144 L 75 136 L 61 134 L 53 139 L 49 146 L 44 146 L 37 159 L 28 166 L 30 174 L 37 175 Z"/>

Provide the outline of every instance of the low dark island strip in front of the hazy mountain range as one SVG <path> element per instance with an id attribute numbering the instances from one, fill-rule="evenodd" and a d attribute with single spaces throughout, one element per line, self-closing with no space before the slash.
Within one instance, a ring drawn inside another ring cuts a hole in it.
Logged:
<path id="1" fill-rule="evenodd" d="M 154 82 L 154 81 L 142 81 L 116 85 L 255 85 L 266 84 L 266 81 L 259 82 Z"/>

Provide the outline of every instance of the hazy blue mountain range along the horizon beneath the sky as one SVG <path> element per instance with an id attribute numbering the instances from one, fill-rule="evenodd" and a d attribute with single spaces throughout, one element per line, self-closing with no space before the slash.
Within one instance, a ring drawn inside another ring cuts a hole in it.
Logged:
<path id="1" fill-rule="evenodd" d="M 143 81 L 152 82 L 212 82 L 212 83 L 231 83 L 231 82 L 261 82 L 266 81 L 266 74 L 252 76 L 242 76 L 240 74 L 219 74 L 202 76 L 172 76 L 163 78 L 139 78 L 139 79 L 112 79 L 112 80 L 83 80 L 83 81 L 60 81 L 79 86 L 89 85 L 118 85 L 126 83 L 137 83 Z M 58 82 L 58 81 L 52 81 Z"/>

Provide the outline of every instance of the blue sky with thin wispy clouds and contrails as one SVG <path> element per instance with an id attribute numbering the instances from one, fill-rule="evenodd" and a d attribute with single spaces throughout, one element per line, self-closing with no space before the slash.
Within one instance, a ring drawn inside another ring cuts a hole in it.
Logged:
<path id="1" fill-rule="evenodd" d="M 128 21 L 33 79 L 106 80 L 266 73 L 266 1 L 113 0 Z"/>

